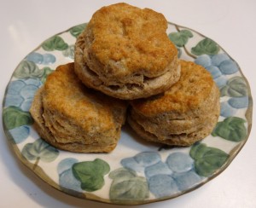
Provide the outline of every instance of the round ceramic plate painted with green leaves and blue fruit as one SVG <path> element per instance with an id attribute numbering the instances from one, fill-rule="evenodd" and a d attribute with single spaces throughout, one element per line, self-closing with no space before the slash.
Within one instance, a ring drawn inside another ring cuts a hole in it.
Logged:
<path id="1" fill-rule="evenodd" d="M 205 66 L 221 92 L 221 114 L 210 136 L 192 147 L 143 142 L 128 125 L 112 153 L 69 153 L 51 147 L 33 129 L 33 95 L 56 66 L 73 61 L 86 24 L 44 41 L 15 69 L 3 100 L 3 126 L 17 157 L 54 188 L 82 199 L 139 205 L 172 199 L 218 176 L 239 153 L 252 126 L 253 102 L 240 67 L 218 43 L 169 23 L 179 58 Z"/>

